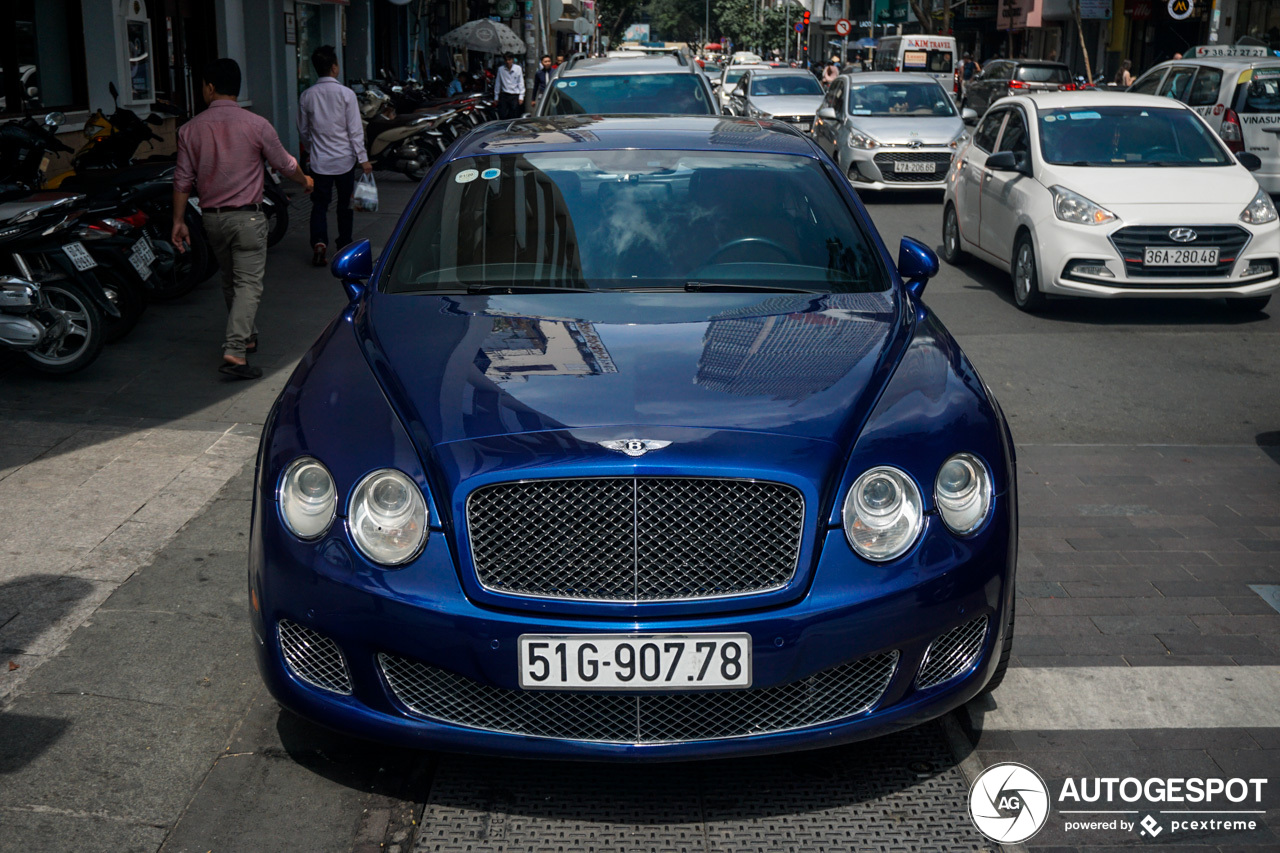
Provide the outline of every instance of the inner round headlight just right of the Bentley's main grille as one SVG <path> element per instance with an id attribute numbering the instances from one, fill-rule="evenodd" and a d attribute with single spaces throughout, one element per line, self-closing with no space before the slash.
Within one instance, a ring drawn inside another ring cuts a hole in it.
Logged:
<path id="1" fill-rule="evenodd" d="M 877 562 L 892 560 L 920 533 L 920 491 L 896 467 L 873 467 L 849 489 L 844 520 L 854 551 Z"/>

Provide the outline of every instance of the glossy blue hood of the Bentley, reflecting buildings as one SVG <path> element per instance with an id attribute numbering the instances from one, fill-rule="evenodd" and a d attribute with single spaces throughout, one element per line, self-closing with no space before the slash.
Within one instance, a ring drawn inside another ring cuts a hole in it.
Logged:
<path id="1" fill-rule="evenodd" d="M 371 295 L 357 333 L 426 446 L 545 430 L 689 426 L 845 442 L 910 327 L 850 295 Z"/>

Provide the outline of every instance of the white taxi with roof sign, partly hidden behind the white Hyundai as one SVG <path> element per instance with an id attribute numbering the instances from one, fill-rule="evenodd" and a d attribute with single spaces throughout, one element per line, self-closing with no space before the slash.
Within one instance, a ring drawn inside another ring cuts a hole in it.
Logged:
<path id="1" fill-rule="evenodd" d="M 1280 195 L 1280 59 L 1261 46 L 1203 45 L 1156 65 L 1129 91 L 1179 100 L 1199 113 L 1233 152 L 1258 155 L 1258 184 Z"/>

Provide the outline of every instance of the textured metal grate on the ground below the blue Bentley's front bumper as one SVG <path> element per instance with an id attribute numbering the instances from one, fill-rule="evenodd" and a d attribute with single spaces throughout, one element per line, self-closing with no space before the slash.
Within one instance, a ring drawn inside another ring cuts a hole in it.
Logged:
<path id="1" fill-rule="evenodd" d="M 937 724 L 732 761 L 622 766 L 442 756 L 412 849 L 995 850 L 969 820 L 968 790 Z"/>

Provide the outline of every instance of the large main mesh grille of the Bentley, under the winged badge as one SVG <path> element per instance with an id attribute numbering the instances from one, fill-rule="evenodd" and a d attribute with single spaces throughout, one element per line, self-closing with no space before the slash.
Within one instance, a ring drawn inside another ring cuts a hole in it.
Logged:
<path id="1" fill-rule="evenodd" d="M 476 489 L 467 532 L 486 589 L 579 601 L 767 592 L 795 575 L 804 497 L 700 478 L 525 480 Z"/>

